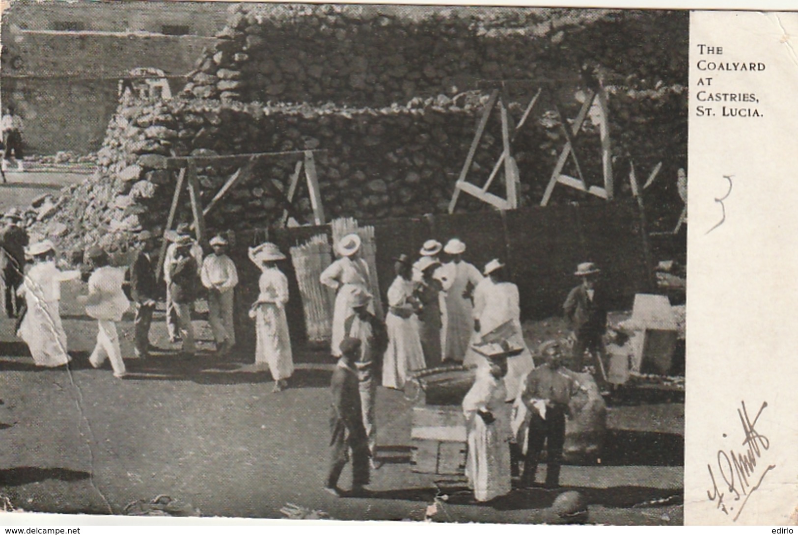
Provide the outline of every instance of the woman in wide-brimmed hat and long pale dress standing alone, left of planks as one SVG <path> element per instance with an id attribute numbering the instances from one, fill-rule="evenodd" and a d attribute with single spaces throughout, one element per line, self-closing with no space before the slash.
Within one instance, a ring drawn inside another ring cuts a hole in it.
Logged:
<path id="1" fill-rule="evenodd" d="M 294 373 L 291 357 L 291 340 L 286 321 L 288 302 L 288 279 L 277 267 L 277 261 L 285 260 L 279 248 L 270 242 L 255 248 L 250 247 L 249 258 L 261 270 L 258 301 L 250 309 L 255 319 L 258 340 L 255 344 L 255 364 L 267 364 L 275 380 L 274 391 L 287 386 L 287 379 Z"/>

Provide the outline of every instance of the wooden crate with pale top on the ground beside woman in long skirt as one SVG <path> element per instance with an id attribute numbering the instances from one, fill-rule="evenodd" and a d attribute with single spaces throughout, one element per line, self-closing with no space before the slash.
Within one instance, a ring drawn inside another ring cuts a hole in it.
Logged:
<path id="1" fill-rule="evenodd" d="M 464 474 L 466 429 L 459 406 L 413 407 L 410 440 L 410 465 L 414 472 Z"/>

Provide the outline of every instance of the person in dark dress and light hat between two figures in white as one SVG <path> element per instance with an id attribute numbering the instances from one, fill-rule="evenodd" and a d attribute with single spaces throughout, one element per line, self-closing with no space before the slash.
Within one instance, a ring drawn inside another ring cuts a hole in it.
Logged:
<path id="1" fill-rule="evenodd" d="M 440 331 L 443 327 L 440 313 L 440 293 L 443 290 L 443 285 L 435 278 L 435 273 L 440 268 L 440 262 L 432 257 L 421 257 L 421 260 L 416 262 L 416 266 L 421 270 L 421 282 L 415 291 L 421 305 L 418 312 L 421 348 L 424 350 L 427 368 L 436 368 L 441 364 Z"/>

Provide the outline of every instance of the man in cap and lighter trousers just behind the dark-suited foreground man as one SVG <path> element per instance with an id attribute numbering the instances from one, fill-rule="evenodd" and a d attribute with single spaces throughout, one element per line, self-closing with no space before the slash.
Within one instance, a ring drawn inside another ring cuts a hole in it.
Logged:
<path id="1" fill-rule="evenodd" d="M 353 314 L 346 318 L 344 336 L 360 340 L 358 358 L 354 367 L 358 371 L 358 388 L 363 411 L 363 427 L 369 442 L 372 467 L 377 454 L 377 418 L 374 407 L 377 401 L 377 383 L 380 381 L 382 356 L 388 347 L 385 324 L 369 312 L 372 297 L 361 290 L 351 297 Z"/>

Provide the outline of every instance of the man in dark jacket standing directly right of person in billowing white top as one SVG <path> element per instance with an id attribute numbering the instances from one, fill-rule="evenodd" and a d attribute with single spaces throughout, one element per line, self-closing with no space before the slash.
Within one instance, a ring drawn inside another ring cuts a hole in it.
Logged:
<path id="1" fill-rule="evenodd" d="M 133 320 L 136 356 L 145 358 L 149 356 L 149 329 L 158 295 L 154 262 L 156 239 L 149 230 L 140 232 L 138 238 L 141 246 L 130 265 L 130 296 L 136 302 L 136 318 Z"/>

